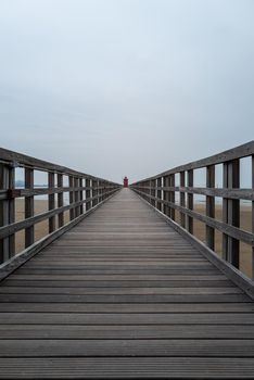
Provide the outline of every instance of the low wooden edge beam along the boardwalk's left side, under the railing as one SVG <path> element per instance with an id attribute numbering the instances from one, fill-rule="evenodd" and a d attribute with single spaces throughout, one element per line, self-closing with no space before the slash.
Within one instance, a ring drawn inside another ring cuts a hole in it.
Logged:
<path id="1" fill-rule="evenodd" d="M 8 276 L 10 276 L 14 270 L 16 270 L 18 267 L 21 267 L 23 264 L 25 264 L 28 259 L 30 259 L 33 256 L 35 256 L 37 253 L 39 253 L 42 249 L 45 249 L 47 245 L 51 244 L 55 239 L 60 238 L 63 233 L 75 227 L 77 224 L 79 224 L 81 220 L 84 220 L 87 216 L 92 214 L 94 211 L 97 211 L 102 204 L 104 204 L 106 201 L 109 201 L 112 197 L 114 197 L 120 189 L 113 192 L 112 195 L 103 200 L 101 203 L 97 204 L 89 211 L 87 211 L 85 214 L 79 215 L 77 218 L 71 220 L 60 229 L 51 232 L 50 235 L 47 235 L 45 238 L 38 240 L 36 243 L 30 245 L 29 248 L 25 249 L 21 253 L 16 254 L 15 256 L 11 257 L 9 261 L 4 262 L 0 265 L 0 282 L 5 279 Z"/>

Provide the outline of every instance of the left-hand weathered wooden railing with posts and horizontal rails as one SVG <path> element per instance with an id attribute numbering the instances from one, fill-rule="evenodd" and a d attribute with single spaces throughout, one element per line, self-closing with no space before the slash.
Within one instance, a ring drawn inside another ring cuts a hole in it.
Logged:
<path id="1" fill-rule="evenodd" d="M 22 189 L 15 188 L 16 168 L 24 172 Z M 38 172 L 47 173 L 46 187 L 35 187 L 34 175 Z M 65 187 L 64 181 L 67 182 Z M 15 255 L 16 232 L 25 231 L 25 253 L 36 253 L 119 188 L 120 185 L 102 178 L 0 149 L 0 264 Z M 67 202 L 65 194 L 68 194 Z M 35 215 L 36 195 L 48 199 L 48 211 L 38 215 Z M 25 217 L 20 221 L 15 219 L 16 198 L 24 199 Z M 48 220 L 48 236 L 35 243 L 35 226 L 42 220 Z"/>

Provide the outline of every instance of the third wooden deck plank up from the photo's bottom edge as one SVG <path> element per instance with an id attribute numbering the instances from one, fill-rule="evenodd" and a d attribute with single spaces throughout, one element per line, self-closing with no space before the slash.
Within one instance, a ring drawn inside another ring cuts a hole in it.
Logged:
<path id="1" fill-rule="evenodd" d="M 1 325 L 1 339 L 254 339 L 254 326 Z M 135 338 L 134 338 L 135 337 Z"/>

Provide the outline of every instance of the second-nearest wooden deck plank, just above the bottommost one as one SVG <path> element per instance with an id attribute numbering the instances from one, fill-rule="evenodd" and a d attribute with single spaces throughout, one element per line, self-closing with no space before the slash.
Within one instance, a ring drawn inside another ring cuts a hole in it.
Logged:
<path id="1" fill-rule="evenodd" d="M 252 357 L 253 340 L 1 340 L 0 357 L 94 356 Z"/>

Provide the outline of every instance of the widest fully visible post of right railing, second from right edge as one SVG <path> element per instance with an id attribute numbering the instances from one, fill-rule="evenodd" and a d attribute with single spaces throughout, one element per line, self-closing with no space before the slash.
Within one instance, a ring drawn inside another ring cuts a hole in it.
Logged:
<path id="1" fill-rule="evenodd" d="M 224 164 L 224 187 L 240 187 L 239 160 L 233 160 Z M 228 225 L 240 226 L 240 202 L 234 199 L 224 199 L 224 221 Z M 223 257 L 239 268 L 239 240 L 224 233 L 223 238 Z"/>

